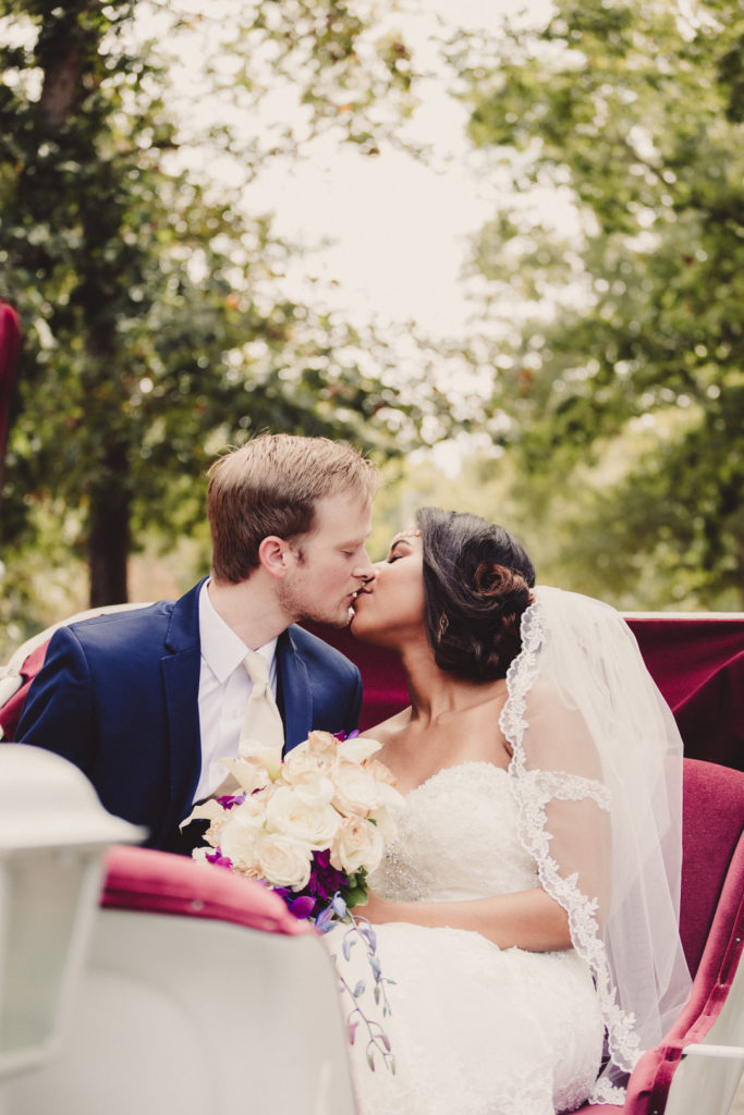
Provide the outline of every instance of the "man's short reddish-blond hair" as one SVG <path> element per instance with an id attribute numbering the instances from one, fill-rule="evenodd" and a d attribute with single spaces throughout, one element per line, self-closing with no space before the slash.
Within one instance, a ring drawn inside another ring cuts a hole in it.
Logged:
<path id="1" fill-rule="evenodd" d="M 377 466 L 346 442 L 290 434 L 252 438 L 210 469 L 213 576 L 245 581 L 259 565 L 263 539 L 307 534 L 318 500 L 347 492 L 371 498 L 377 484 Z"/>

